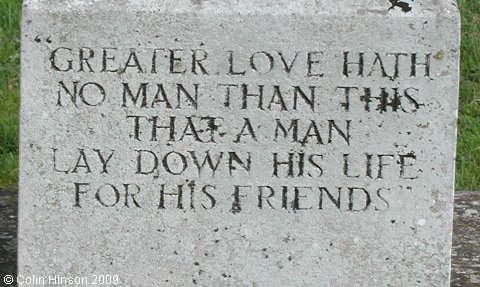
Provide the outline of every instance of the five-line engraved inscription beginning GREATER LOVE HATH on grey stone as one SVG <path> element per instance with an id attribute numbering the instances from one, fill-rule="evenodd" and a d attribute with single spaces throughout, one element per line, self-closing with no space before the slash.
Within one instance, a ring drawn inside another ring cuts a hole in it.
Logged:
<path id="1" fill-rule="evenodd" d="M 414 192 L 421 153 L 364 139 L 428 107 L 433 51 L 207 47 L 50 49 L 55 111 L 108 106 L 98 125 L 122 127 L 116 147 L 51 147 L 70 206 L 360 213 Z"/>

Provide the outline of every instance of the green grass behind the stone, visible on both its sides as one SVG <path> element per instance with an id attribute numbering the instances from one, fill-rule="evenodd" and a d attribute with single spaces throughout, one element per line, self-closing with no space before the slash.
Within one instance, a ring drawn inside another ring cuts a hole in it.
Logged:
<path id="1" fill-rule="evenodd" d="M 462 73 L 457 147 L 458 190 L 480 189 L 480 0 L 459 0 Z M 20 0 L 0 0 L 0 188 L 18 173 Z"/>

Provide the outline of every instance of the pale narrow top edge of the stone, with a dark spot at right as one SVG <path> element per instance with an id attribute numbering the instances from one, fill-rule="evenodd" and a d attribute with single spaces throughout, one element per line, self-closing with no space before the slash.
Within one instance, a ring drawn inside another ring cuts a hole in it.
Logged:
<path id="1" fill-rule="evenodd" d="M 24 0 L 24 9 L 152 11 L 196 14 L 334 14 L 344 16 L 458 16 L 456 0 Z M 47 11 L 45 11 L 47 12 Z"/>

